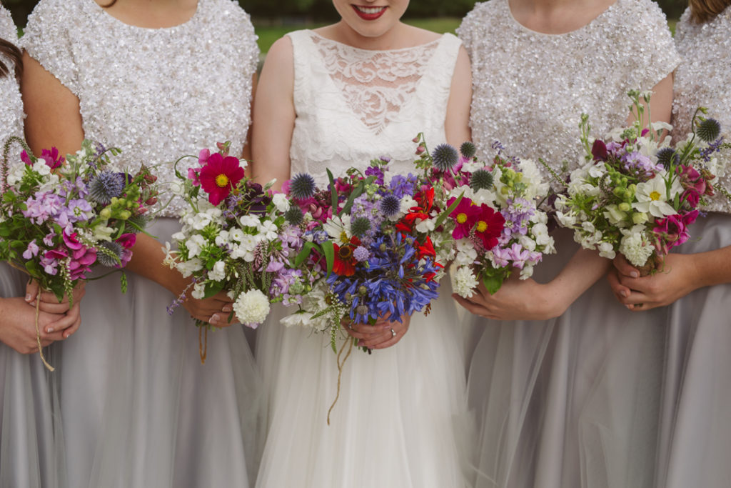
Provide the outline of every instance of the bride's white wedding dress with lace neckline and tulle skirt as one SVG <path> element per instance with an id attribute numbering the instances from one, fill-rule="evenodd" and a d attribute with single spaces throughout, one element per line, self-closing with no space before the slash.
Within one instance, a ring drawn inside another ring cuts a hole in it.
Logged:
<path id="1" fill-rule="evenodd" d="M 414 170 L 412 138 L 445 140 L 444 119 L 460 42 L 451 34 L 414 48 L 361 50 L 313 31 L 294 47 L 291 172 L 318 184 L 374 157 Z M 257 361 L 270 388 L 270 422 L 257 487 L 444 488 L 466 486 L 460 436 L 465 378 L 448 279 L 428 317 L 416 314 L 398 344 L 346 361 L 340 399 L 329 338 L 270 321 Z"/>

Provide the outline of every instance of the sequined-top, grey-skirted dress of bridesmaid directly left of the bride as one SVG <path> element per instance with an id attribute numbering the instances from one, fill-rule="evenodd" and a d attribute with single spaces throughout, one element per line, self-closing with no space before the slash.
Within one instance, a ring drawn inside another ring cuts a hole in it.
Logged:
<path id="1" fill-rule="evenodd" d="M 23 45 L 78 97 L 86 138 L 122 149 L 117 170 L 151 166 L 165 200 L 179 156 L 224 140 L 242 151 L 255 40 L 230 0 L 199 0 L 169 29 L 122 23 L 94 0 L 42 0 Z M 172 241 L 183 205 L 173 199 L 151 235 Z M 60 345 L 69 486 L 249 486 L 259 390 L 242 327 L 208 334 L 201 365 L 186 310 L 168 315 L 172 294 L 128 278 L 124 295 L 117 274 L 90 282 L 83 326 Z"/>

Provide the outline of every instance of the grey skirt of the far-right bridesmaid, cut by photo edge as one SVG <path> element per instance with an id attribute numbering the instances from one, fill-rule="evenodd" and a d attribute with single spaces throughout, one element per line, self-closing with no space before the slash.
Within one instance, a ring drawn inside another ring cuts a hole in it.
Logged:
<path id="1" fill-rule="evenodd" d="M 690 232 L 679 252 L 731 246 L 731 216 L 708 214 Z M 656 486 L 730 487 L 731 284 L 700 288 L 668 309 Z"/>

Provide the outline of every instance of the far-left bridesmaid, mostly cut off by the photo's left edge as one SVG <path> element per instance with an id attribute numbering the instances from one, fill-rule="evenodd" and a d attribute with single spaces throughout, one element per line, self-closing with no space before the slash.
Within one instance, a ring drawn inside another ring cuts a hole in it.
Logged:
<path id="1" fill-rule="evenodd" d="M 18 31 L 0 4 L 0 144 L 11 136 L 23 137 L 23 101 L 18 77 L 23 70 Z M 16 146 L 19 147 L 19 146 Z M 27 300 L 26 279 L 20 271 L 0 264 L 0 484 L 7 487 L 57 488 L 66 486 L 63 474 L 62 435 L 58 423 L 56 376 L 37 356 L 34 290 Z M 80 324 L 75 305 L 45 304 L 39 312 L 41 345 L 64 339 Z M 50 301 L 50 299 L 47 300 Z M 54 331 L 48 332 L 48 329 Z M 48 349 L 45 349 L 50 356 Z M 50 361 L 55 362 L 54 358 Z"/>

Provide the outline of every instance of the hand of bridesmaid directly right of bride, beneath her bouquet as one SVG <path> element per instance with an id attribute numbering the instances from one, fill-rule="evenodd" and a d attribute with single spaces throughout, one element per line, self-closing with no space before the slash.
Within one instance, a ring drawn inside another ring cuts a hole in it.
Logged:
<path id="1" fill-rule="evenodd" d="M 480 284 L 469 299 L 456 293 L 452 298 L 474 315 L 493 320 L 546 320 L 558 317 L 569 306 L 561 303 L 553 288 L 550 283 L 541 285 L 534 279 L 518 279 L 514 274 L 494 295 Z"/>

